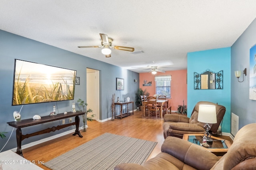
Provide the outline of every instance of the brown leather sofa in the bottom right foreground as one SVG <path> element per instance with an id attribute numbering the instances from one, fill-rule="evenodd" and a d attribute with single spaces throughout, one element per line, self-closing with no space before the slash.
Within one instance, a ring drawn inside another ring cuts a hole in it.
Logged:
<path id="1" fill-rule="evenodd" d="M 224 156 L 177 137 L 167 137 L 161 151 L 143 165 L 119 164 L 115 170 L 254 170 L 256 123 L 242 127 Z"/>

